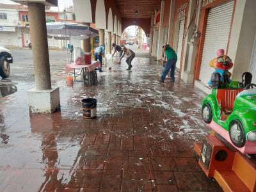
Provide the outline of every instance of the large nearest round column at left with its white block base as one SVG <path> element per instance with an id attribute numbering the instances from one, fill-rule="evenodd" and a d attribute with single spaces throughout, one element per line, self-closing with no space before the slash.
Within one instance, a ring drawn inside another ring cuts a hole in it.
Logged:
<path id="1" fill-rule="evenodd" d="M 45 5 L 28 3 L 36 87 L 28 90 L 29 113 L 53 113 L 60 108 L 60 89 L 51 86 Z"/>

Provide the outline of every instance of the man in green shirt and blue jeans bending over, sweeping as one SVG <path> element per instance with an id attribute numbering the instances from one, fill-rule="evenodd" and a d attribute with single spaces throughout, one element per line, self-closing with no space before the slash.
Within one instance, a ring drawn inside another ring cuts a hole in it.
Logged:
<path id="1" fill-rule="evenodd" d="M 171 76 L 171 82 L 175 81 L 174 77 L 174 72 L 175 72 L 175 65 L 177 62 L 177 54 L 176 52 L 170 47 L 170 45 L 164 45 L 163 46 L 163 55 L 164 57 L 164 52 L 167 58 L 167 62 L 164 67 L 163 74 L 160 79 L 157 79 L 157 81 L 164 82 L 165 77 L 167 76 L 169 70 L 171 70 L 170 76 Z"/>

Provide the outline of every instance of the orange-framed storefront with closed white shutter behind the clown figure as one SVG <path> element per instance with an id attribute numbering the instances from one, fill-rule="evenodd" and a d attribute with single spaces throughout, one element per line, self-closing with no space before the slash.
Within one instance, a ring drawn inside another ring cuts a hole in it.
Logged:
<path id="1" fill-rule="evenodd" d="M 228 54 L 235 0 L 203 1 L 200 14 L 200 39 L 196 52 L 195 84 L 204 86 L 211 78 L 214 68 L 209 66 L 216 52 L 224 49 Z"/>

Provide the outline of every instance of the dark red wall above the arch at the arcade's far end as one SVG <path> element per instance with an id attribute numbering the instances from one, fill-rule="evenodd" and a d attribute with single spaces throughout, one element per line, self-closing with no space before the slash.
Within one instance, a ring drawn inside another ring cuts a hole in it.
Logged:
<path id="1" fill-rule="evenodd" d="M 134 26 L 134 18 L 122 18 L 122 33 L 129 26 Z M 136 19 L 136 26 L 140 26 L 147 34 L 150 34 L 151 19 Z"/>

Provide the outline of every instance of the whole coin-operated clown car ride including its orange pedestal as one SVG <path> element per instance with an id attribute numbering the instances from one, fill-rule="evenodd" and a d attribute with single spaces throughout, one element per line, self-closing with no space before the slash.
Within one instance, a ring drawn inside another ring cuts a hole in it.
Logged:
<path id="1" fill-rule="evenodd" d="M 216 71 L 209 84 L 212 93 L 202 103 L 202 118 L 212 131 L 195 143 L 199 164 L 224 191 L 256 191 L 256 84 L 245 72 L 231 81 L 232 60 L 222 50 L 210 62 Z"/>

